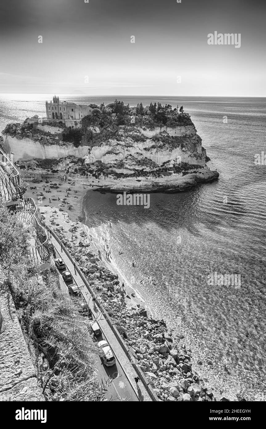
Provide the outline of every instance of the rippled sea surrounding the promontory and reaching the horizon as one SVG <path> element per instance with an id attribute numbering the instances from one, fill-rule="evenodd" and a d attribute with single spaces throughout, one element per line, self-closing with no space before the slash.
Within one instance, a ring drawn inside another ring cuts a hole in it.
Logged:
<path id="1" fill-rule="evenodd" d="M 44 115 L 51 97 L 0 96 L 0 130 Z M 110 103 L 115 97 L 60 98 Z M 266 99 L 123 100 L 184 105 L 220 178 L 185 193 L 151 194 L 149 209 L 119 206 L 116 194 L 90 191 L 87 225 L 97 242 L 108 240 L 113 264 L 156 316 L 184 335 L 194 369 L 229 399 L 241 393 L 265 400 L 266 166 L 255 165 L 254 155 L 266 154 Z M 241 275 L 241 287 L 208 285 L 214 272 Z"/>

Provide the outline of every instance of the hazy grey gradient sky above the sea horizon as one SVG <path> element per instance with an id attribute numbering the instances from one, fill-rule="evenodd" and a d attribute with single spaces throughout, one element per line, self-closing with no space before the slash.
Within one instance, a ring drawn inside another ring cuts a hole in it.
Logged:
<path id="1" fill-rule="evenodd" d="M 265 10 L 259 0 L 8 0 L 0 93 L 263 97 Z M 241 47 L 208 45 L 215 31 L 241 33 Z"/>

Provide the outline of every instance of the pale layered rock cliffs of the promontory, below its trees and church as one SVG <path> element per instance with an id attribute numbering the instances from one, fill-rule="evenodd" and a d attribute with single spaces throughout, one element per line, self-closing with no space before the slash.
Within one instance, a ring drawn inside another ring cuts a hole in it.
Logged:
<path id="1" fill-rule="evenodd" d="M 48 126 L 42 125 L 40 130 L 35 124 L 29 130 L 25 125 L 11 124 L 3 134 L 3 148 L 15 153 L 15 161 L 55 159 L 54 166 L 48 163 L 52 172 L 108 178 L 100 185 L 104 190 L 179 192 L 219 176 L 206 166 L 209 158 L 189 115 L 185 120 L 187 125 L 145 127 L 108 124 L 105 119 L 84 127 L 80 135 L 87 145 L 78 147 L 60 140 L 60 128 L 49 134 Z M 42 165 L 45 168 L 46 164 L 37 162 L 36 169 Z"/>

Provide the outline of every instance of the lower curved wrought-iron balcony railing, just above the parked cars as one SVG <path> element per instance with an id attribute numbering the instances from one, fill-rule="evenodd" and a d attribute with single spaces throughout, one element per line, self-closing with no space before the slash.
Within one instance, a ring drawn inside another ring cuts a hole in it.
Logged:
<path id="1" fill-rule="evenodd" d="M 41 265 L 48 262 L 54 251 L 54 246 L 48 237 L 47 230 L 42 226 L 42 217 L 39 207 L 33 198 L 26 197 L 9 208 L 18 213 L 21 222 L 33 225 L 36 231 L 36 245 L 29 248 L 29 258 L 33 265 Z"/>

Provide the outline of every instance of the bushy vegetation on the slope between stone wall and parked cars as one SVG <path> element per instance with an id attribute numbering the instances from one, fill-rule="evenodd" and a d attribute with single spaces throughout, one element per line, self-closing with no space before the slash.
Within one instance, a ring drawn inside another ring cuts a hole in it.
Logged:
<path id="1" fill-rule="evenodd" d="M 77 303 L 60 290 L 57 272 L 37 275 L 27 259 L 28 233 L 5 205 L 0 207 L 0 259 L 25 340 L 42 363 L 39 384 L 48 401 L 102 401 L 98 348 Z"/>

